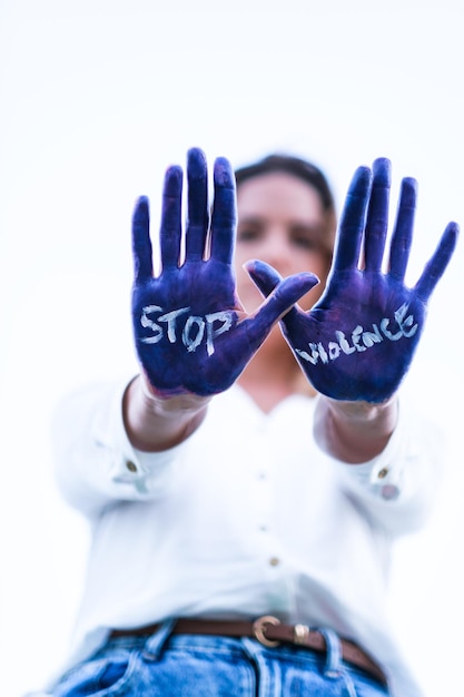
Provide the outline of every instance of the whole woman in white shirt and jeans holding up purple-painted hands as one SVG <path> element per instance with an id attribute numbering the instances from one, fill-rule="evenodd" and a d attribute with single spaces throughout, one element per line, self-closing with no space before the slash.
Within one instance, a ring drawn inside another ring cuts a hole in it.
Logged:
<path id="1" fill-rule="evenodd" d="M 167 171 L 156 276 L 138 202 L 140 374 L 58 410 L 58 480 L 93 541 L 52 694 L 417 697 L 384 592 L 393 539 L 430 507 L 440 444 L 397 390 L 457 227 L 406 288 L 415 183 L 384 274 L 389 164 L 359 168 L 323 293 L 335 214 L 322 173 L 273 156 L 236 179 L 235 272 L 226 159 L 209 220 L 206 160 L 189 151 L 185 239 L 182 171 Z"/>

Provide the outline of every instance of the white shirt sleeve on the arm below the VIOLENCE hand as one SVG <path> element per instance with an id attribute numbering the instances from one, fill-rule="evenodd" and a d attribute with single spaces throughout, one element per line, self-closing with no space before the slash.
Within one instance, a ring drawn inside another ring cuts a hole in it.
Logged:
<path id="1" fill-rule="evenodd" d="M 376 523 L 397 536 L 419 529 L 443 479 L 445 439 L 406 397 L 384 451 L 363 464 L 337 462 L 347 492 Z"/>

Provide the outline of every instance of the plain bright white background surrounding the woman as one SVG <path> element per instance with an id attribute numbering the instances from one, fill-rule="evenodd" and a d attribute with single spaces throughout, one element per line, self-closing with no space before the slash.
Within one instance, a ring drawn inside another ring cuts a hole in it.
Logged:
<path id="1" fill-rule="evenodd" d="M 464 224 L 460 6 L 0 0 L 6 697 L 39 688 L 66 655 L 88 537 L 53 484 L 50 415 L 62 392 L 136 370 L 135 198 L 150 196 L 156 226 L 165 167 L 188 147 L 235 166 L 287 149 L 325 169 L 339 208 L 354 169 L 387 156 L 393 199 L 401 177 L 419 181 L 414 282 L 446 223 Z M 395 553 L 389 597 L 426 697 L 460 690 L 462 298 L 461 243 L 406 381 L 445 430 L 444 485 L 427 528 Z"/>

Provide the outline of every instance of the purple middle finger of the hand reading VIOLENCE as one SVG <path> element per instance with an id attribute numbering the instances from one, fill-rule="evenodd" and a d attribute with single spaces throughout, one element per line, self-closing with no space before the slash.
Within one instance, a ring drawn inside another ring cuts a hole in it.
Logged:
<path id="1" fill-rule="evenodd" d="M 373 165 L 373 180 L 364 235 L 365 269 L 379 271 L 388 229 L 388 202 L 392 166 L 381 157 Z"/>

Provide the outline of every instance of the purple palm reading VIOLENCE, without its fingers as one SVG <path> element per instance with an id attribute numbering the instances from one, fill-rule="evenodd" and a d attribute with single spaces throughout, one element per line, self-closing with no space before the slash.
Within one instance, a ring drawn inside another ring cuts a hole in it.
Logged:
<path id="1" fill-rule="evenodd" d="M 333 399 L 382 402 L 407 371 L 425 305 L 382 274 L 342 273 L 310 314 L 285 320 L 285 334 L 318 392 Z"/>

